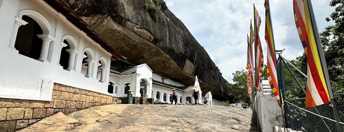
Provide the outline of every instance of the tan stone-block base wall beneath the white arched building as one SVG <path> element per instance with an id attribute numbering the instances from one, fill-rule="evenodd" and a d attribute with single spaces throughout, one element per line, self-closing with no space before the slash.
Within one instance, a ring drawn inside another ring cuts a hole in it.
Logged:
<path id="1" fill-rule="evenodd" d="M 0 98 L 0 132 L 14 132 L 63 112 L 65 115 L 92 106 L 121 102 L 112 96 L 54 84 L 51 101 Z"/>

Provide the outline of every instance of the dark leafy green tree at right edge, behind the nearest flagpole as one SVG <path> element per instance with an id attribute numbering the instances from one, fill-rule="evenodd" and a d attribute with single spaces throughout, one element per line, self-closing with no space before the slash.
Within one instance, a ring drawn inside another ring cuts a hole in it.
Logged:
<path id="1" fill-rule="evenodd" d="M 344 0 L 332 0 L 330 6 L 336 7 L 326 21 L 335 24 L 325 28 L 320 33 L 325 51 L 325 60 L 334 93 L 344 91 Z"/>

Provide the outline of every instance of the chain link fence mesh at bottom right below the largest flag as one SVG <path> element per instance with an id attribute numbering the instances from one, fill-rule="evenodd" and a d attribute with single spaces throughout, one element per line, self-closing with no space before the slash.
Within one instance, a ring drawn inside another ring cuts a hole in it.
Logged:
<path id="1" fill-rule="evenodd" d="M 338 132 L 331 103 L 305 108 L 305 98 L 285 99 L 286 127 L 303 132 Z M 344 131 L 344 93 L 335 94 L 341 130 Z"/>

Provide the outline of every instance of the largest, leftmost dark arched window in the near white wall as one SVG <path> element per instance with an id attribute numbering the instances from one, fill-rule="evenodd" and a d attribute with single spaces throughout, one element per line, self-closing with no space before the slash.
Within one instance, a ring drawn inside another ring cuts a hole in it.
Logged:
<path id="1" fill-rule="evenodd" d="M 19 54 L 38 60 L 42 39 L 37 35 L 42 34 L 43 30 L 31 17 L 23 15 L 22 19 L 28 24 L 19 27 L 14 47 Z"/>

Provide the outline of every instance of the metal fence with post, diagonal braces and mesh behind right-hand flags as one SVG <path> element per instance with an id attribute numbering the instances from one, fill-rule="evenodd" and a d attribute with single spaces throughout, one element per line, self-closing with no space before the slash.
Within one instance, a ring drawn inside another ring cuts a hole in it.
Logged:
<path id="1" fill-rule="evenodd" d="M 293 99 L 284 99 L 284 118 L 285 127 L 291 128 L 292 130 L 299 130 L 303 132 L 339 132 L 339 129 L 344 130 L 344 93 L 334 94 L 335 104 L 338 113 L 338 122 L 336 120 L 335 110 L 331 103 L 326 103 L 318 105 L 313 108 L 306 108 L 305 101 L 303 98 L 306 95 L 306 91 L 303 89 L 299 82 L 299 79 L 294 75 L 291 68 L 287 65 L 289 64 L 295 70 L 294 72 L 301 73 L 301 77 L 307 78 L 307 76 L 293 66 L 290 62 L 285 60 L 280 56 L 279 64 L 282 66 L 284 64 L 284 69 L 289 71 L 288 75 L 294 78 L 294 83 L 296 83 L 296 89 L 290 89 L 295 87 L 295 85 L 289 84 L 284 85 L 283 97 L 291 97 Z M 283 68 L 280 68 L 280 72 L 283 78 Z M 284 79 L 283 79 L 284 84 Z M 289 85 L 289 86 L 288 86 Z M 286 88 L 289 88 L 286 90 Z M 300 90 L 299 93 L 294 92 L 295 90 Z M 297 95 L 296 95 L 297 94 Z M 296 98 L 296 99 L 294 99 Z"/>

